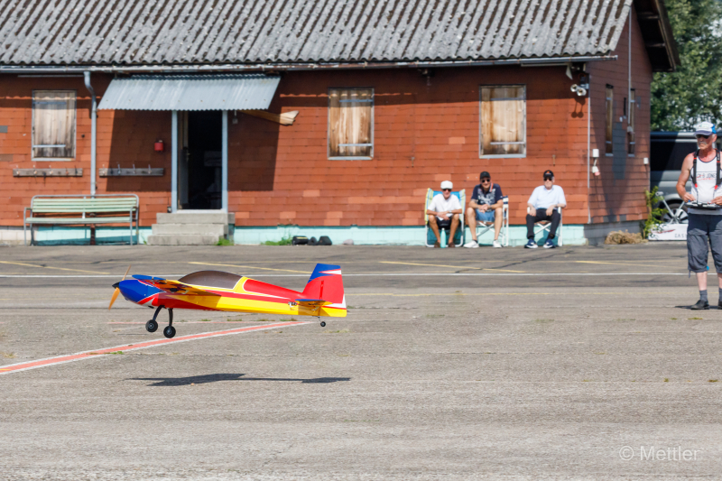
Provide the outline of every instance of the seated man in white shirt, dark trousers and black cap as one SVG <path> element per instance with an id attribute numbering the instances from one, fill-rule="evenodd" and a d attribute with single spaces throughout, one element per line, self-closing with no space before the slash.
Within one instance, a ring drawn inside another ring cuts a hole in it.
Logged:
<path id="1" fill-rule="evenodd" d="M 534 242 L 534 223 L 542 220 L 551 220 L 549 236 L 544 243 L 545 249 L 553 249 L 554 237 L 557 236 L 557 227 L 561 220 L 561 215 L 557 208 L 567 207 L 567 199 L 564 198 L 564 190 L 558 185 L 554 185 L 554 172 L 544 171 L 544 185 L 540 185 L 532 192 L 532 197 L 527 201 L 526 216 L 526 237 L 529 242 L 524 245 L 527 249 L 536 249 Z"/>

